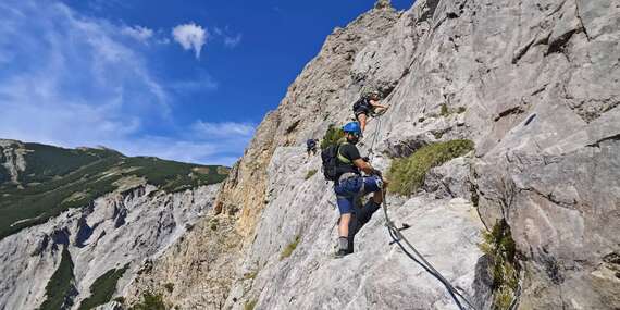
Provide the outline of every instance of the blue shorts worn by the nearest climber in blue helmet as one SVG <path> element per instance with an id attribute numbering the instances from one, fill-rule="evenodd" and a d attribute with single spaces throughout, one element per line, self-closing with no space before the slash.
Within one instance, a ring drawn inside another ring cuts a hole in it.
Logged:
<path id="1" fill-rule="evenodd" d="M 363 186 L 363 188 L 362 188 Z M 334 186 L 336 193 L 336 201 L 340 214 L 351 213 L 355 208 L 356 200 L 367 194 L 381 190 L 383 181 L 379 176 L 351 177 L 343 181 Z"/>

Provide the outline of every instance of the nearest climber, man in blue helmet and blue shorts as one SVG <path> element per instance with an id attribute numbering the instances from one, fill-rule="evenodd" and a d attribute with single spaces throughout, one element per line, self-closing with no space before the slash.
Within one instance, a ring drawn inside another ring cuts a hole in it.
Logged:
<path id="1" fill-rule="evenodd" d="M 343 127 L 346 141 L 337 148 L 336 193 L 340 220 L 338 224 L 338 250 L 336 258 L 354 252 L 354 238 L 359 230 L 370 221 L 372 214 L 380 209 L 387 181 L 381 172 L 370 165 L 360 156 L 356 144 L 361 136 L 359 123 L 351 122 Z M 367 176 L 362 176 L 364 172 Z M 358 201 L 367 194 L 374 193 L 372 199 L 360 208 Z"/>

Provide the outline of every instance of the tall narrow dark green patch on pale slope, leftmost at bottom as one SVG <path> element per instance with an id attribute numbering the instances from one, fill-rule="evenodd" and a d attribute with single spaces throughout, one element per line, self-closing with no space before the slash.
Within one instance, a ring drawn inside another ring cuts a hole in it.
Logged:
<path id="1" fill-rule="evenodd" d="M 39 310 L 69 309 L 73 305 L 72 299 L 77 292 L 73 285 L 73 260 L 66 248 L 63 247 L 60 265 L 46 285 L 47 299 Z"/>

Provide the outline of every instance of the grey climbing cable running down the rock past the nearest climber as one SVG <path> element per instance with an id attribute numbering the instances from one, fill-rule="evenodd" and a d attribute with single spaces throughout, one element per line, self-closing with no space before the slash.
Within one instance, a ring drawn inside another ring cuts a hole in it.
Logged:
<path id="1" fill-rule="evenodd" d="M 376 125 L 377 128 L 373 135 L 372 142 L 369 149 L 371 161 L 374 156 L 373 152 L 374 144 L 376 141 L 376 138 L 379 137 L 379 134 L 381 133 L 382 121 L 381 117 L 376 119 L 379 120 L 379 124 Z M 416 247 L 413 247 L 413 245 L 405 237 L 405 235 L 402 235 L 401 231 L 407 230 L 410 226 L 408 224 L 402 224 L 402 227 L 399 228 L 398 226 L 396 226 L 396 224 L 394 224 L 394 222 L 392 222 L 392 220 L 389 220 L 389 215 L 387 214 L 387 201 L 385 199 L 386 197 L 383 187 L 381 187 L 381 197 L 383 201 L 382 209 L 385 215 L 385 226 L 387 227 L 389 237 L 392 237 L 392 241 L 389 243 L 389 245 L 397 244 L 398 247 L 400 247 L 400 249 L 405 252 L 405 255 L 407 255 L 411 260 L 417 262 L 420 266 L 422 266 L 425 271 L 427 271 L 431 275 L 433 275 L 437 281 L 439 281 L 446 287 L 448 294 L 450 295 L 452 300 L 455 300 L 455 303 L 457 303 L 460 310 L 466 309 L 461 303 L 461 300 L 464 301 L 466 306 L 468 306 L 470 309 L 476 310 L 476 308 L 472 305 L 472 302 L 470 302 L 462 294 L 460 294 L 426 259 L 424 259 L 424 257 L 416 249 Z M 409 248 L 411 252 L 407 248 Z M 459 300 L 459 298 L 461 300 Z"/>

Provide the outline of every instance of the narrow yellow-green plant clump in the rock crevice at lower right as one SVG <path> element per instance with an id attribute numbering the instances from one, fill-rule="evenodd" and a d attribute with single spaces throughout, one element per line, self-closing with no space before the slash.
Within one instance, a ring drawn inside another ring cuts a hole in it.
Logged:
<path id="1" fill-rule="evenodd" d="M 517 247 L 510 226 L 505 220 L 483 232 L 484 241 L 480 249 L 491 258 L 493 272 L 493 307 L 496 310 L 509 309 L 519 287 L 519 264 L 516 260 Z"/>

